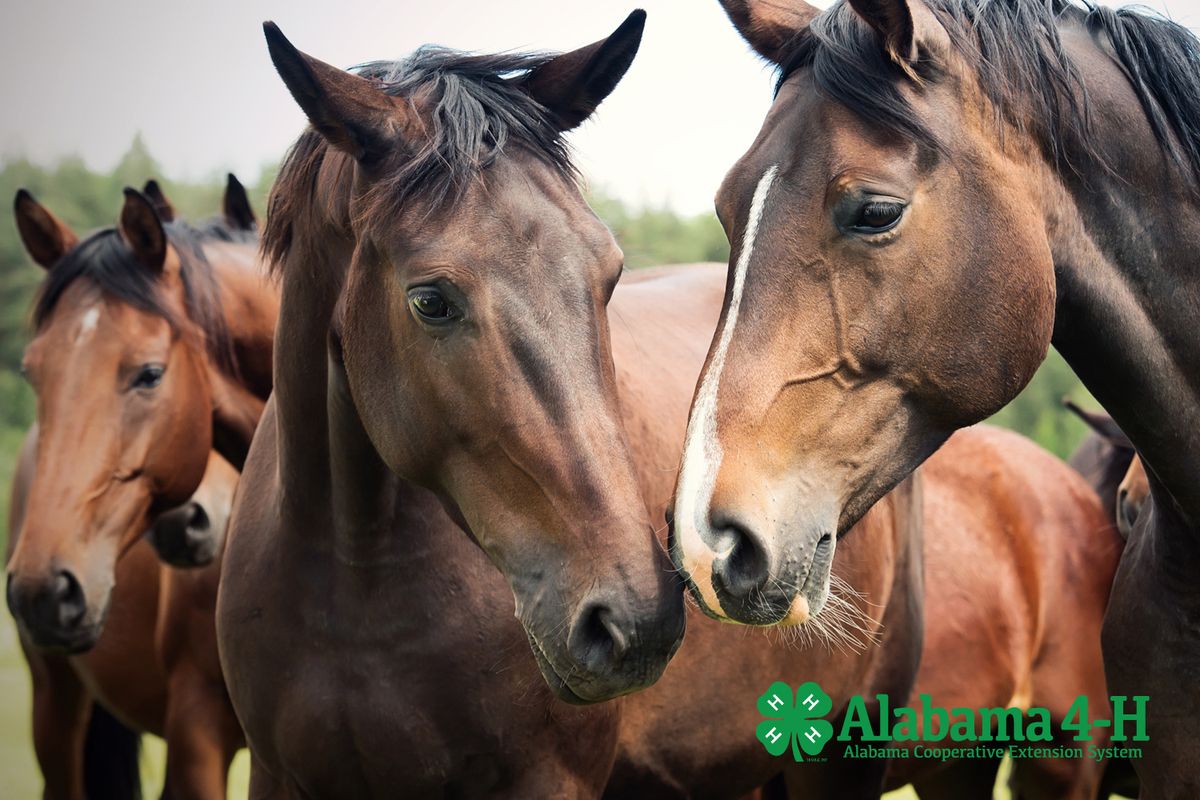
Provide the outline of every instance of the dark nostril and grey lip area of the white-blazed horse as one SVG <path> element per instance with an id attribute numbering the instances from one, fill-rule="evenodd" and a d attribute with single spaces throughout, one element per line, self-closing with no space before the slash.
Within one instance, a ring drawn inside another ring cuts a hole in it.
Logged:
<path id="1" fill-rule="evenodd" d="M 713 589 L 725 612 L 739 621 L 770 625 L 781 620 L 792 603 L 786 581 L 773 572 L 772 545 L 760 530 L 736 515 L 714 510 Z"/>

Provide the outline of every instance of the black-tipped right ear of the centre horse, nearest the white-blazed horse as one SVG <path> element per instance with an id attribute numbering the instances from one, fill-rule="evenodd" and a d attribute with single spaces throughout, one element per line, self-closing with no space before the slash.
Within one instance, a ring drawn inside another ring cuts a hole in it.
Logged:
<path id="1" fill-rule="evenodd" d="M 634 62 L 646 12 L 638 8 L 608 38 L 551 59 L 529 73 L 524 89 L 554 115 L 559 131 L 592 116 Z"/>

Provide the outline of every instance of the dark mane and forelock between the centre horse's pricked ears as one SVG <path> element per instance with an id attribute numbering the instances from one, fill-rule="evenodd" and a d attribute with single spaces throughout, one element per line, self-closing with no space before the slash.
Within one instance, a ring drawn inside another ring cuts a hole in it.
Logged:
<path id="1" fill-rule="evenodd" d="M 523 79 L 552 58 L 548 53 L 472 55 L 426 44 L 400 61 L 353 67 L 385 94 L 419 106 L 427 134 L 373 182 L 361 221 L 385 222 L 416 200 L 437 211 L 457 200 L 511 146 L 575 181 L 570 150 L 551 113 L 522 88 Z M 312 211 L 316 196 L 332 192 L 344 203 L 352 163 L 311 127 L 284 156 L 263 230 L 263 253 L 272 270 L 280 269 L 298 218 Z"/>

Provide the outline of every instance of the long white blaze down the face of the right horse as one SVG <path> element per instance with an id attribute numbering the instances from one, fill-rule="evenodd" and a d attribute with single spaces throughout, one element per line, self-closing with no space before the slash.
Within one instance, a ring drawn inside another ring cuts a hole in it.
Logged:
<path id="1" fill-rule="evenodd" d="M 776 164 L 763 174 L 750 201 L 750 217 L 746 219 L 745 233 L 742 234 L 742 252 L 738 253 L 737 267 L 733 271 L 730 308 L 725 315 L 725 325 L 721 326 L 716 349 L 713 350 L 713 359 L 701 379 L 700 391 L 691 408 L 688 437 L 684 441 L 683 467 L 679 470 L 676 534 L 679 537 L 683 569 L 692 578 L 704 604 L 713 612 L 721 612 L 716 589 L 713 588 L 713 561 L 727 555 L 727 553 L 714 553 L 701 536 L 701 530 L 708 529 L 708 506 L 713 499 L 713 485 L 716 482 L 716 470 L 721 465 L 724 455 L 721 443 L 716 438 L 716 391 L 721 383 L 721 371 L 725 368 L 725 354 L 730 349 L 730 339 L 733 338 L 733 326 L 738 323 L 742 291 L 745 289 L 746 271 L 754 255 L 758 221 L 762 218 L 767 194 L 778 172 Z"/>

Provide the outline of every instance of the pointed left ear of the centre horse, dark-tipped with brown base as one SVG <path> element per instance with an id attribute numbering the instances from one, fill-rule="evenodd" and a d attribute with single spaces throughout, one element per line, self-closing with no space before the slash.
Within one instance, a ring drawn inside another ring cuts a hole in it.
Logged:
<path id="1" fill-rule="evenodd" d="M 332 146 L 361 162 L 390 152 L 413 122 L 406 102 L 373 83 L 301 53 L 275 23 L 263 23 L 266 47 L 288 91 Z"/>

